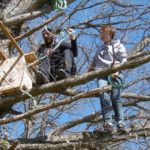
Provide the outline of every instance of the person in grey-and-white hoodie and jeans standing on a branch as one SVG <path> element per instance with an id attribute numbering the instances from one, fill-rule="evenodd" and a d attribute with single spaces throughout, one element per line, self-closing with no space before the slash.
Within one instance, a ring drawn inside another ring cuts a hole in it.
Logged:
<path id="1" fill-rule="evenodd" d="M 123 64 L 127 61 L 126 49 L 120 40 L 115 40 L 115 27 L 112 25 L 103 25 L 101 27 L 100 38 L 103 41 L 103 45 L 99 48 L 95 54 L 93 61 L 88 71 L 95 69 L 105 69 L 118 64 Z M 97 86 L 104 87 L 112 85 L 111 92 L 104 92 L 99 95 L 101 110 L 103 115 L 103 128 L 106 131 L 113 130 L 112 123 L 112 109 L 115 113 L 115 120 L 117 123 L 118 132 L 125 131 L 124 125 L 124 113 L 122 109 L 122 103 L 120 100 L 120 90 L 123 83 L 123 76 L 121 72 L 116 72 L 108 77 L 98 78 Z"/>

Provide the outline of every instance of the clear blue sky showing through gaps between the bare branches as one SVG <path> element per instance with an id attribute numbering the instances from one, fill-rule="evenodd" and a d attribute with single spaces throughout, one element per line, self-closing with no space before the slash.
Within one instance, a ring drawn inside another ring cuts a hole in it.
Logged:
<path id="1" fill-rule="evenodd" d="M 126 0 L 123 0 L 123 1 L 126 1 Z M 138 4 L 138 5 L 139 4 L 146 5 L 146 6 L 150 5 L 150 1 L 149 0 L 130 0 L 130 1 L 132 3 Z M 79 0 L 77 0 L 76 3 L 78 3 L 78 2 L 79 2 Z M 92 3 L 92 0 L 91 0 L 91 3 Z M 67 8 L 66 12 L 67 11 L 69 12 L 73 7 L 75 7 L 75 3 L 73 5 L 71 5 L 71 6 L 69 6 Z M 138 10 L 138 11 L 142 11 L 142 10 Z M 54 13 L 56 13 L 56 12 L 54 12 Z M 95 13 L 95 10 L 91 10 L 91 11 L 84 10 L 84 11 L 81 11 L 81 12 L 77 13 L 76 15 L 74 15 L 73 19 L 70 22 L 67 22 L 66 25 L 67 26 L 71 26 L 72 24 L 76 24 L 77 22 L 83 22 L 84 20 L 88 20 L 89 16 L 94 15 L 94 13 Z M 136 15 L 136 11 L 134 13 L 135 13 L 134 15 Z M 47 16 L 50 17 L 51 15 L 52 14 L 48 14 Z M 150 16 L 146 16 L 145 21 L 147 21 L 147 18 L 150 18 Z M 32 22 L 29 22 L 29 27 L 33 28 L 37 24 L 42 23 L 45 19 L 46 19 L 45 17 L 42 17 L 42 18 L 40 17 L 40 18 L 38 18 L 38 19 L 36 19 L 36 20 L 34 20 Z M 117 21 L 117 19 L 118 18 L 113 18 L 111 21 Z M 107 22 L 107 20 L 105 20 L 105 22 Z M 97 21 L 95 23 L 99 23 L 99 21 Z M 132 26 L 132 25 L 133 24 L 130 24 L 130 26 Z M 52 26 L 54 27 L 55 24 L 53 24 Z M 121 27 L 123 27 L 123 25 L 118 26 L 118 28 L 121 28 Z M 76 31 L 76 34 L 78 35 L 79 29 L 75 29 L 75 31 Z M 87 31 L 89 34 L 90 33 L 92 33 L 92 34 L 97 33 L 96 30 L 90 30 L 90 29 L 88 29 L 88 30 L 85 30 L 85 31 Z M 41 44 L 43 42 L 43 40 L 41 38 L 41 34 L 40 34 L 40 32 L 37 32 L 35 34 L 37 35 L 37 38 L 35 39 L 36 43 L 37 43 L 37 45 L 39 45 L 39 44 Z M 132 33 L 128 32 L 128 35 L 126 36 L 126 39 L 128 39 L 129 42 L 131 41 L 131 43 L 124 43 L 128 52 L 133 47 L 133 42 L 132 41 L 134 41 L 134 42 L 135 41 L 139 41 L 140 37 L 141 37 L 140 36 L 141 34 L 143 34 L 143 33 L 140 30 L 137 31 L 137 33 L 135 33 L 135 36 L 133 36 Z M 136 35 L 139 35 L 139 36 L 136 36 Z M 117 34 L 117 37 L 121 38 L 121 36 L 122 35 L 119 32 Z M 124 41 L 126 41 L 126 39 Z M 90 47 L 90 45 L 91 45 L 91 43 L 93 41 L 94 41 L 93 37 L 89 37 L 88 35 L 87 36 L 81 36 L 79 38 L 79 40 L 78 40 L 78 45 L 80 46 L 80 45 L 82 45 L 82 43 L 85 43 L 85 45 L 89 45 L 89 47 Z M 21 45 L 21 47 L 25 51 L 28 52 L 30 50 L 29 43 L 26 43 L 26 45 L 25 45 L 24 42 L 27 42 L 27 39 L 23 40 L 20 45 Z M 96 43 L 97 44 L 101 44 L 101 41 L 99 40 L 99 38 L 96 39 Z M 80 50 L 79 51 L 79 55 L 81 56 L 83 52 L 82 52 L 81 49 L 79 49 L 79 50 Z M 96 52 L 96 47 L 94 47 L 94 50 L 93 50 L 93 52 L 90 55 L 94 56 L 95 52 Z M 76 59 L 76 63 L 77 64 L 82 64 L 83 60 L 84 59 L 81 59 L 79 61 L 78 58 L 77 58 Z M 91 60 L 92 60 L 92 57 L 89 60 L 89 62 L 87 63 L 87 65 L 85 65 L 85 67 L 81 70 L 81 72 L 79 74 L 82 74 L 82 73 L 86 72 L 87 67 L 88 67 L 88 65 L 89 65 L 89 63 L 90 63 Z M 150 71 L 149 64 L 145 65 L 145 70 L 147 70 L 147 72 Z M 128 74 L 128 78 L 126 79 L 126 82 L 128 83 L 128 82 L 134 80 L 137 72 L 142 76 L 143 73 L 144 73 L 143 67 L 139 67 L 138 70 L 133 70 L 131 73 L 129 73 Z M 142 86 L 143 86 L 143 82 L 138 84 L 138 88 L 140 88 L 140 87 L 142 88 Z M 79 87 L 79 90 L 85 90 L 85 89 L 88 89 L 88 88 L 91 89 L 91 88 L 95 88 L 95 87 L 96 87 L 96 80 L 93 80 L 93 81 L 89 82 L 88 84 L 86 84 L 86 85 L 84 85 L 82 87 Z M 131 89 L 129 88 L 128 90 L 129 91 L 133 90 L 135 92 L 135 89 L 132 89 L 132 88 Z M 148 90 L 149 89 L 147 89 L 147 92 L 148 92 Z M 138 92 L 137 92 L 137 94 L 138 94 Z M 92 102 L 92 104 L 91 104 L 91 102 Z M 74 113 L 73 113 L 73 111 L 71 111 L 71 112 L 70 111 L 66 111 L 62 116 L 59 117 L 60 124 L 62 124 L 64 122 L 71 121 L 72 119 L 76 119 L 76 118 L 79 118 L 79 117 L 81 118 L 81 117 L 83 117 L 85 115 L 89 115 L 92 112 L 96 112 L 96 111 L 98 111 L 100 109 L 100 104 L 99 104 L 99 99 L 98 98 L 83 99 L 79 103 L 81 104 L 81 108 L 80 109 L 79 108 L 76 109 L 76 107 L 78 107 L 78 105 L 77 106 L 75 105 L 72 108 L 72 110 L 74 111 Z M 56 113 L 55 110 L 53 110 L 53 113 Z M 12 133 L 13 137 L 19 136 L 22 133 L 22 131 L 24 130 L 23 124 L 21 122 L 19 122 L 15 126 L 14 126 L 14 124 L 10 124 L 9 126 L 10 126 L 10 131 L 12 130 L 12 128 L 15 128 L 14 131 L 17 131 L 17 132 L 13 132 Z M 80 129 L 84 129 L 84 128 L 85 128 L 85 124 L 80 126 Z M 94 129 L 94 128 L 92 128 L 92 129 Z M 133 147 L 135 147 L 135 145 L 133 145 Z"/>

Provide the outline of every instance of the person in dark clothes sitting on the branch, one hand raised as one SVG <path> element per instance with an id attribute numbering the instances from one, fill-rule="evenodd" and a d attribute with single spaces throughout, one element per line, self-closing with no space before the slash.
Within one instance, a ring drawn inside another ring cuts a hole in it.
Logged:
<path id="1" fill-rule="evenodd" d="M 74 57 L 78 55 L 76 36 L 73 34 L 73 29 L 67 29 L 67 33 L 71 44 L 64 41 L 57 42 L 57 35 L 52 29 L 42 31 L 44 44 L 37 50 L 37 57 L 41 60 L 35 73 L 37 85 L 76 74 L 74 62 Z"/>

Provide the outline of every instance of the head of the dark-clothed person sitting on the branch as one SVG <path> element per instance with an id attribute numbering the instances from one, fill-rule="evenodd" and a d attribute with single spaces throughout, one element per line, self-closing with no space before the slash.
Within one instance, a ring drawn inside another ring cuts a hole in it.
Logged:
<path id="1" fill-rule="evenodd" d="M 47 28 L 42 31 L 42 36 L 46 44 L 52 44 L 56 35 L 53 30 Z"/>

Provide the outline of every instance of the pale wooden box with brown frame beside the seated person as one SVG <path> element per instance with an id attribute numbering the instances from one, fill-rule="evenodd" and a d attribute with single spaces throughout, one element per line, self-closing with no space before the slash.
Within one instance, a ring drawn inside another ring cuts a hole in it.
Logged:
<path id="1" fill-rule="evenodd" d="M 30 90 L 33 85 L 33 71 L 28 69 L 28 65 L 36 62 L 37 57 L 34 52 L 24 54 L 1 21 L 0 27 L 19 52 L 17 57 L 7 58 L 0 50 L 0 95 Z"/>

